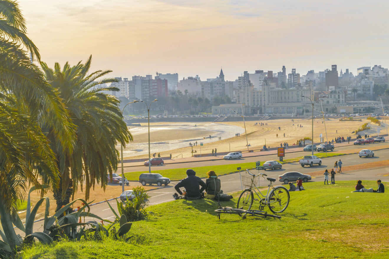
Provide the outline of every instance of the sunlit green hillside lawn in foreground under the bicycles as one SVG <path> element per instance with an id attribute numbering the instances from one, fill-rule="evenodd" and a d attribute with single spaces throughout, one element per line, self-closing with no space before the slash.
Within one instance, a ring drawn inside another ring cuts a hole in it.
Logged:
<path id="1" fill-rule="evenodd" d="M 375 181 L 363 181 L 377 188 Z M 389 185 L 384 183 L 386 188 Z M 22 258 L 389 258 L 389 193 L 351 193 L 354 181 L 304 183 L 291 192 L 281 219 L 222 214 L 213 200 L 150 206 L 133 223 L 130 243 L 59 242 L 35 245 Z M 223 206 L 235 206 L 239 193 Z M 268 212 L 269 210 L 266 209 Z"/>

